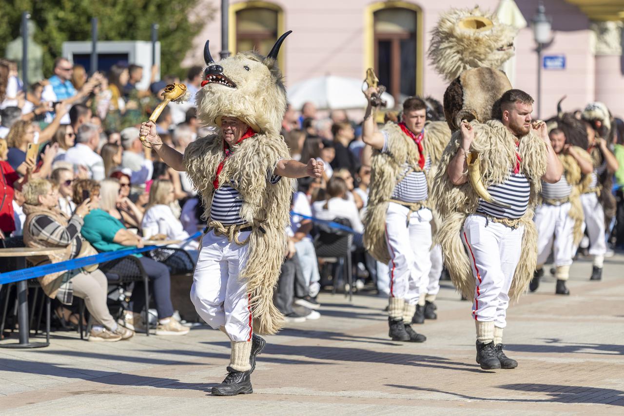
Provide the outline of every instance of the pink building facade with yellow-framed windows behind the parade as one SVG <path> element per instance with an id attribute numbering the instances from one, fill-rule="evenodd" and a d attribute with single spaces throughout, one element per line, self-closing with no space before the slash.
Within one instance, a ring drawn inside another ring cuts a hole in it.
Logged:
<path id="1" fill-rule="evenodd" d="M 477 4 L 494 13 L 499 2 L 479 0 Z M 592 22 L 572 3 L 544 1 L 553 31 L 543 53 L 559 64 L 565 59 L 565 66 L 542 70 L 539 116 L 552 115 L 564 95 L 566 111 L 603 101 L 613 114 L 623 116 L 622 22 Z M 520 29 L 515 39 L 510 78 L 514 87 L 537 97 L 538 59 L 530 21 L 538 0 L 517 0 L 516 4 L 529 26 Z M 286 86 L 328 74 L 363 79 L 366 68 L 374 66 L 389 92 L 395 96 L 398 92 L 399 101 L 414 93 L 442 100 L 447 82 L 427 59 L 430 33 L 440 12 L 464 6 L 466 2 L 459 0 L 234 0 L 228 19 L 229 49 L 255 47 L 266 54 L 278 32 L 292 30 L 280 52 Z M 221 50 L 220 1 L 202 0 L 198 7 L 212 7 L 215 18 L 195 37 L 183 62 L 187 66 L 203 64 L 206 39 L 210 39 L 213 56 Z"/>

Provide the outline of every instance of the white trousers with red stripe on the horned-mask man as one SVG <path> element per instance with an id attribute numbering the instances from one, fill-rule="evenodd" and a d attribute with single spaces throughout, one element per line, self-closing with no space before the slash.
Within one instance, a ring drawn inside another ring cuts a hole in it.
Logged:
<path id="1" fill-rule="evenodd" d="M 241 232 L 245 240 L 249 231 Z M 197 314 L 214 329 L 225 327 L 230 340 L 248 341 L 253 332 L 247 284 L 238 279 L 248 257 L 248 244 L 228 242 L 213 231 L 203 236 L 200 247 L 191 301 Z"/>

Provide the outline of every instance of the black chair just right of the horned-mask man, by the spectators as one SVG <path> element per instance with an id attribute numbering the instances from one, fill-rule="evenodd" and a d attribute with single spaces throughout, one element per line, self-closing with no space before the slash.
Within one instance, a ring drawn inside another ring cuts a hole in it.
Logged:
<path id="1" fill-rule="evenodd" d="M 334 222 L 351 227 L 351 221 L 346 218 L 335 218 Z M 353 300 L 353 267 L 351 265 L 351 245 L 353 245 L 353 234 L 331 227 L 325 223 L 318 223 L 316 226 L 316 236 L 314 237 L 314 249 L 316 257 L 323 259 L 326 263 L 336 263 L 336 273 L 333 276 L 332 293 L 336 293 L 338 282 L 346 277 L 348 290 L 345 296 L 349 296 L 349 301 Z"/>

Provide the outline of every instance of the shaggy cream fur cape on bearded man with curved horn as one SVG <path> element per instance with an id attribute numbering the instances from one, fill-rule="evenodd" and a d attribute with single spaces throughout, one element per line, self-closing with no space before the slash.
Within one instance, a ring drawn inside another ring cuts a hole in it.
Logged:
<path id="1" fill-rule="evenodd" d="M 487 188 L 504 182 L 514 169 L 515 137 L 500 121 L 485 123 L 471 122 L 475 139 L 471 151 L 479 152 L 482 181 Z M 460 232 L 467 215 L 474 214 L 479 197 L 469 182 L 457 186 L 451 182 L 446 171 L 451 159 L 461 144 L 461 132 L 453 134 L 451 142 L 444 149 L 442 160 L 433 179 L 432 199 L 442 217 L 442 226 L 437 231 L 436 242 L 441 244 L 446 268 L 457 289 L 467 298 L 474 296 L 475 279 L 472 275 L 469 257 L 464 250 Z M 533 223 L 533 208 L 542 188 L 541 178 L 546 172 L 547 147 L 544 141 L 530 133 L 520 139 L 518 152 L 522 158 L 520 169 L 529 179 L 529 208 L 520 219 L 524 226 L 522 252 L 515 269 L 509 297 L 517 300 L 533 277 L 537 261 L 537 232 Z"/>

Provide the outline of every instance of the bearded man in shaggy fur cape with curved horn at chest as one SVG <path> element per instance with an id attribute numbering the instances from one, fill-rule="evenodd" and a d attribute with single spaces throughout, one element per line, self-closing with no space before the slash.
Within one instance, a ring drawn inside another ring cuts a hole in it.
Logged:
<path id="1" fill-rule="evenodd" d="M 532 97 L 512 89 L 497 102 L 495 119 L 462 122 L 454 132 L 432 189 L 447 271 L 474 299 L 482 369 L 517 367 L 503 351 L 507 307 L 535 269 L 532 208 L 542 180 L 554 183 L 562 174 L 545 123 L 532 124 Z"/>

